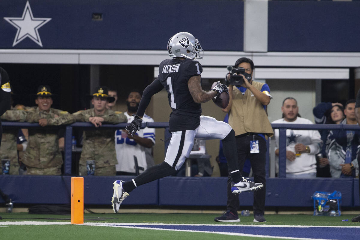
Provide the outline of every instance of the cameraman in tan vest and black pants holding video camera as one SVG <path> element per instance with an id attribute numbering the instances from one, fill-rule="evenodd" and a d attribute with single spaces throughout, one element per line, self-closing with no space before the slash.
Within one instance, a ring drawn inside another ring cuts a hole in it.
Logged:
<path id="1" fill-rule="evenodd" d="M 250 159 L 254 181 L 264 184 L 263 188 L 254 192 L 253 221 L 266 222 L 264 218 L 266 139 L 267 136 L 274 135 L 273 128 L 267 118 L 266 106 L 272 97 L 270 88 L 266 83 L 252 80 L 254 63 L 251 59 L 239 58 L 234 67 L 226 77 L 226 82 L 230 84 L 230 102 L 228 107 L 222 110 L 229 113 L 229 124 L 235 131 L 239 169 L 243 169 L 247 158 Z M 239 76 L 243 80 L 239 80 Z M 215 218 L 215 221 L 240 221 L 237 213 L 239 198 L 231 193 L 230 188 L 231 179 L 229 177 L 227 210 L 222 216 Z"/>

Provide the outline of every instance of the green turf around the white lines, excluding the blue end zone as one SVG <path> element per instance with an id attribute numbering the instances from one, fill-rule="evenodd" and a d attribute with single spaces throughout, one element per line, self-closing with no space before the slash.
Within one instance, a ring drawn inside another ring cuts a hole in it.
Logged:
<path id="1" fill-rule="evenodd" d="M 55 221 L 70 222 L 70 216 L 45 215 L 28 213 L 0 213 L 1 223 L 8 221 Z M 84 223 L 192 223 L 192 224 L 229 224 L 213 221 L 219 214 L 191 214 L 191 213 L 121 213 L 121 214 L 84 214 Z M 246 225 L 312 225 L 312 226 L 360 226 L 360 223 L 351 222 L 353 215 L 339 217 L 311 216 L 305 214 L 294 215 L 265 215 L 266 223 L 254 223 L 252 214 L 249 217 L 240 216 L 240 223 Z M 349 221 L 341 221 L 348 219 Z M 25 238 L 24 238 L 25 237 Z M 222 234 L 162 231 L 133 229 L 122 227 L 81 226 L 81 225 L 7 225 L 0 227 L 0 239 L 216 239 L 216 240 L 255 240 L 257 237 L 230 236 Z M 275 238 L 261 238 L 275 239 Z"/>

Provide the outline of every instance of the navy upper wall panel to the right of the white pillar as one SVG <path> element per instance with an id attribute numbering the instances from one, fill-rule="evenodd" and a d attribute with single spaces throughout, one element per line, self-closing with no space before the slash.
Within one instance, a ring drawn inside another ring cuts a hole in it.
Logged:
<path id="1" fill-rule="evenodd" d="M 269 1 L 268 51 L 360 51 L 360 2 Z"/>

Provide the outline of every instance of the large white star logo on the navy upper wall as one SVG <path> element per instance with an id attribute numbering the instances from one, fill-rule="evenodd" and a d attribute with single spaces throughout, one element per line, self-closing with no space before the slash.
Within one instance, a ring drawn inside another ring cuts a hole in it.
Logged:
<path id="1" fill-rule="evenodd" d="M 51 18 L 34 18 L 30 8 L 29 1 L 26 2 L 24 12 L 21 18 L 5 18 L 10 24 L 18 29 L 13 46 L 29 37 L 32 41 L 36 42 L 42 47 L 39 32 L 37 31 L 40 27 L 44 26 L 45 23 L 49 22 Z"/>

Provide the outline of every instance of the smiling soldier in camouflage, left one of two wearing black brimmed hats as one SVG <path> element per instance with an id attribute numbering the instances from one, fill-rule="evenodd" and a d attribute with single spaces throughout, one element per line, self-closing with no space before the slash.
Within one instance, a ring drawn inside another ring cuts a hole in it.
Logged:
<path id="1" fill-rule="evenodd" d="M 51 108 L 53 104 L 49 86 L 40 86 L 36 94 L 37 108 L 27 109 L 27 122 L 40 126 L 59 126 L 75 122 L 66 111 Z M 59 149 L 58 128 L 29 128 L 29 141 L 23 163 L 28 175 L 60 175 L 63 158 Z"/>

